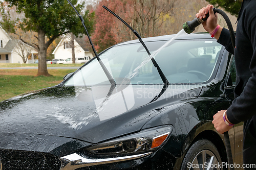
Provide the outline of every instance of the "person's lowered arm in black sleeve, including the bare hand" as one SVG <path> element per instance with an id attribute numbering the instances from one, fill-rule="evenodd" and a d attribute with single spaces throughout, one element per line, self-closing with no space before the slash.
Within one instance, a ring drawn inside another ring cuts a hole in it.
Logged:
<path id="1" fill-rule="evenodd" d="M 248 10 L 252 11 L 252 10 Z M 238 124 L 244 122 L 245 120 L 256 115 L 256 14 L 253 17 L 251 13 L 246 16 L 244 26 L 247 28 L 244 30 L 248 34 L 250 39 L 250 44 L 252 45 L 252 57 L 250 60 L 250 71 L 252 72 L 251 77 L 247 81 L 242 93 L 232 102 L 232 105 L 226 111 L 226 118 L 231 124 Z M 243 50 L 248 50 L 248 47 L 245 47 Z M 240 56 L 242 56 L 240 54 Z M 223 117 L 224 111 L 220 111 L 214 115 L 214 120 L 212 123 L 218 132 L 223 133 L 228 131 L 230 127 L 225 125 L 221 117 Z"/>

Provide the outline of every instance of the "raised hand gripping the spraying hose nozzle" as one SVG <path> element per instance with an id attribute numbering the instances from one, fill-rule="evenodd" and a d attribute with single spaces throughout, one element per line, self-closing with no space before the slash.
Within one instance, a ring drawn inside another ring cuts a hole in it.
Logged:
<path id="1" fill-rule="evenodd" d="M 218 21 L 218 16 L 217 13 L 214 14 L 214 10 L 212 9 L 214 6 L 212 5 L 207 5 L 206 7 L 202 8 L 197 14 L 196 17 L 199 19 L 205 18 L 205 15 L 209 11 L 209 17 L 207 18 L 206 21 L 202 23 L 205 31 L 208 33 L 212 32 L 217 26 L 217 21 Z"/>

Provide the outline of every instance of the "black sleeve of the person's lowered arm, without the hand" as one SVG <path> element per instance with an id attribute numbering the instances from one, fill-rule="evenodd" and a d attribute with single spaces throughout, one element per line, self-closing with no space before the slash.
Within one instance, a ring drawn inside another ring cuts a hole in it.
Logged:
<path id="1" fill-rule="evenodd" d="M 245 23 L 247 35 L 252 45 L 252 58 L 250 61 L 251 77 L 246 83 L 243 92 L 227 109 L 227 118 L 232 124 L 243 122 L 256 115 L 256 17 Z M 247 50 L 247 49 L 244 49 Z"/>

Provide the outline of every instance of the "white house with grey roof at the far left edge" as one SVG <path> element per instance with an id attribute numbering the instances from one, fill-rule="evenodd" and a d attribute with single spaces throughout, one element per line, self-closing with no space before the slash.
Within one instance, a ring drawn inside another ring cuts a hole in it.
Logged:
<path id="1" fill-rule="evenodd" d="M 31 48 L 30 54 L 32 56 L 37 54 L 33 47 L 28 46 L 28 48 Z M 0 26 L 0 63 L 23 63 L 23 59 L 19 54 L 18 40 L 12 40 Z"/>

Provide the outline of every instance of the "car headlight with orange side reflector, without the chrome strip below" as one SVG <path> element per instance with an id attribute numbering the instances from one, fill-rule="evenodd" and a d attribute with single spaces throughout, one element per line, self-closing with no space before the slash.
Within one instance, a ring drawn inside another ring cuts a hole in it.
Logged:
<path id="1" fill-rule="evenodd" d="M 155 151 L 166 141 L 172 130 L 171 125 L 145 129 L 132 135 L 96 144 L 87 148 L 86 151 L 90 155 L 99 157 L 118 157 Z"/>

